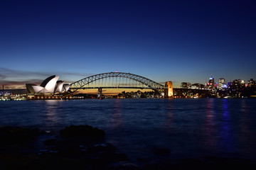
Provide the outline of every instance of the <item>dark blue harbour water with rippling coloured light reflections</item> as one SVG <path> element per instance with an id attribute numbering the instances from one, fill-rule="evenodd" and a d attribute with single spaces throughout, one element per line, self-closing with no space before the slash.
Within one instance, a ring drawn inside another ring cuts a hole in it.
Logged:
<path id="1" fill-rule="evenodd" d="M 1 101 L 0 126 L 69 125 L 106 132 L 132 162 L 200 157 L 256 158 L 256 99 L 86 99 Z M 157 149 L 169 151 L 156 154 Z"/>

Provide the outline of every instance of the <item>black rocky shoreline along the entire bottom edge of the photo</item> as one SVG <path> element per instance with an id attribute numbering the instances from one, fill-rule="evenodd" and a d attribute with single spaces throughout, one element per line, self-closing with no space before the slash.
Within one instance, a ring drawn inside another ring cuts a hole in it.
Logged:
<path id="1" fill-rule="evenodd" d="M 0 128 L 0 169 L 255 169 L 247 159 L 202 157 L 200 159 L 140 158 L 142 166 L 105 142 L 105 132 L 90 125 L 71 125 L 60 135 L 19 127 Z M 154 154 L 168 155 L 159 148 Z"/>

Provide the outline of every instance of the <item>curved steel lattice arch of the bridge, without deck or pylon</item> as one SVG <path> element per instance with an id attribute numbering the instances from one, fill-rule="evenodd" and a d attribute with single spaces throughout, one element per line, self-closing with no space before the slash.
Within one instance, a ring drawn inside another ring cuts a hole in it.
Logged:
<path id="1" fill-rule="evenodd" d="M 127 79 L 133 79 L 134 81 L 138 81 L 139 83 L 142 83 L 148 86 L 149 89 L 152 89 L 156 92 L 164 91 L 164 85 L 156 83 L 156 81 L 147 79 L 146 77 L 142 77 L 136 74 L 130 74 L 130 73 L 124 73 L 124 72 L 108 72 L 108 73 L 102 73 L 102 74 L 95 74 L 93 76 L 86 77 L 84 79 L 80 79 L 78 81 L 73 82 L 72 84 L 70 84 L 70 89 L 77 91 L 78 89 L 83 89 L 83 86 L 90 84 L 93 81 L 106 79 L 109 77 L 124 77 Z"/>

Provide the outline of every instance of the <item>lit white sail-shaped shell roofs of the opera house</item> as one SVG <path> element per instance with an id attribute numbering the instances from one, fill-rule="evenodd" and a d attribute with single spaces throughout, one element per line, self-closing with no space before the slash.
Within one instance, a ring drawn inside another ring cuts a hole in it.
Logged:
<path id="1" fill-rule="evenodd" d="M 59 77 L 55 75 L 45 79 L 40 86 L 36 84 L 26 84 L 28 94 L 55 94 L 62 93 L 70 89 L 69 84 L 64 84 L 64 81 L 58 81 Z"/>

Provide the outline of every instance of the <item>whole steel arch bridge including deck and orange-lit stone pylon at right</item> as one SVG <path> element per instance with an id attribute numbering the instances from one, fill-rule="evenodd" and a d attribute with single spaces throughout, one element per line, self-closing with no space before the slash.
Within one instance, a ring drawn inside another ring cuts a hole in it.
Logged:
<path id="1" fill-rule="evenodd" d="M 146 77 L 125 72 L 95 74 L 70 84 L 71 91 L 79 89 L 98 89 L 99 94 L 102 93 L 102 89 L 151 89 L 161 96 L 173 95 L 171 81 L 166 81 L 166 84 L 162 85 Z"/>

